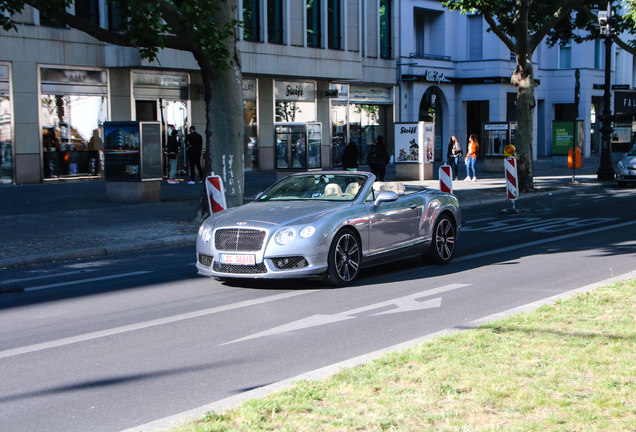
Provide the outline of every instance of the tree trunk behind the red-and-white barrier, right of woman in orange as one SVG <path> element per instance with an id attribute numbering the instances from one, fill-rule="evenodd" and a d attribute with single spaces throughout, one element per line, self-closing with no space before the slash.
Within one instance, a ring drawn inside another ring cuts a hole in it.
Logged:
<path id="1" fill-rule="evenodd" d="M 517 86 L 515 157 L 517 158 L 519 192 L 532 192 L 534 191 L 532 138 L 534 131 L 534 108 L 536 105 L 534 100 L 534 71 L 532 62 L 526 62 L 524 66 L 517 64 L 511 81 Z"/>

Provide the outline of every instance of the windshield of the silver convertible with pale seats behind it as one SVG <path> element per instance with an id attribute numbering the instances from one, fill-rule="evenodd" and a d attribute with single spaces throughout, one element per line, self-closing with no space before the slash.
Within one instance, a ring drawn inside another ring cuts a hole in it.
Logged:
<path id="1" fill-rule="evenodd" d="M 345 173 L 291 176 L 266 190 L 257 201 L 353 201 L 366 181 L 366 176 Z"/>

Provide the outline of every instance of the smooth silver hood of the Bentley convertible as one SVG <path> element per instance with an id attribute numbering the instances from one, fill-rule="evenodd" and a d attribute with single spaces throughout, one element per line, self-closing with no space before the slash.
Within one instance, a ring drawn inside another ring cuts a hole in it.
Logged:
<path id="1" fill-rule="evenodd" d="M 336 210 L 351 207 L 351 202 L 267 201 L 252 202 L 217 213 L 215 227 L 236 227 L 239 222 L 293 225 L 311 223 Z"/>

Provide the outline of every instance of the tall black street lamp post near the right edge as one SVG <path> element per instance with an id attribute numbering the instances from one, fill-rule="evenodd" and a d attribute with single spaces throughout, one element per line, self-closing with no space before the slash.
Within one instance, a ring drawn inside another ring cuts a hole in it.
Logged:
<path id="1" fill-rule="evenodd" d="M 612 39 L 613 32 L 612 24 L 614 23 L 612 14 L 612 2 L 607 2 L 607 16 L 605 17 L 605 23 L 599 16 L 601 24 L 601 35 L 605 36 L 605 92 L 603 93 L 603 126 L 601 127 L 601 133 L 603 134 L 602 146 L 601 146 L 601 165 L 596 172 L 596 179 L 598 181 L 611 181 L 614 180 L 614 169 L 612 168 L 612 108 L 610 106 L 610 88 L 611 88 L 611 75 L 612 75 Z M 603 25 L 605 24 L 605 25 Z"/>

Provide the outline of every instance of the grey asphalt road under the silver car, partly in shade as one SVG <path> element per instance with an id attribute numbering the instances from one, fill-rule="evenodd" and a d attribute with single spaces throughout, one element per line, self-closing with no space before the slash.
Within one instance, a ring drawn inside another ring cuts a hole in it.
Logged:
<path id="1" fill-rule="evenodd" d="M 635 269 L 636 190 L 464 211 L 447 266 L 221 284 L 193 248 L 4 270 L 0 430 L 119 431 Z"/>

